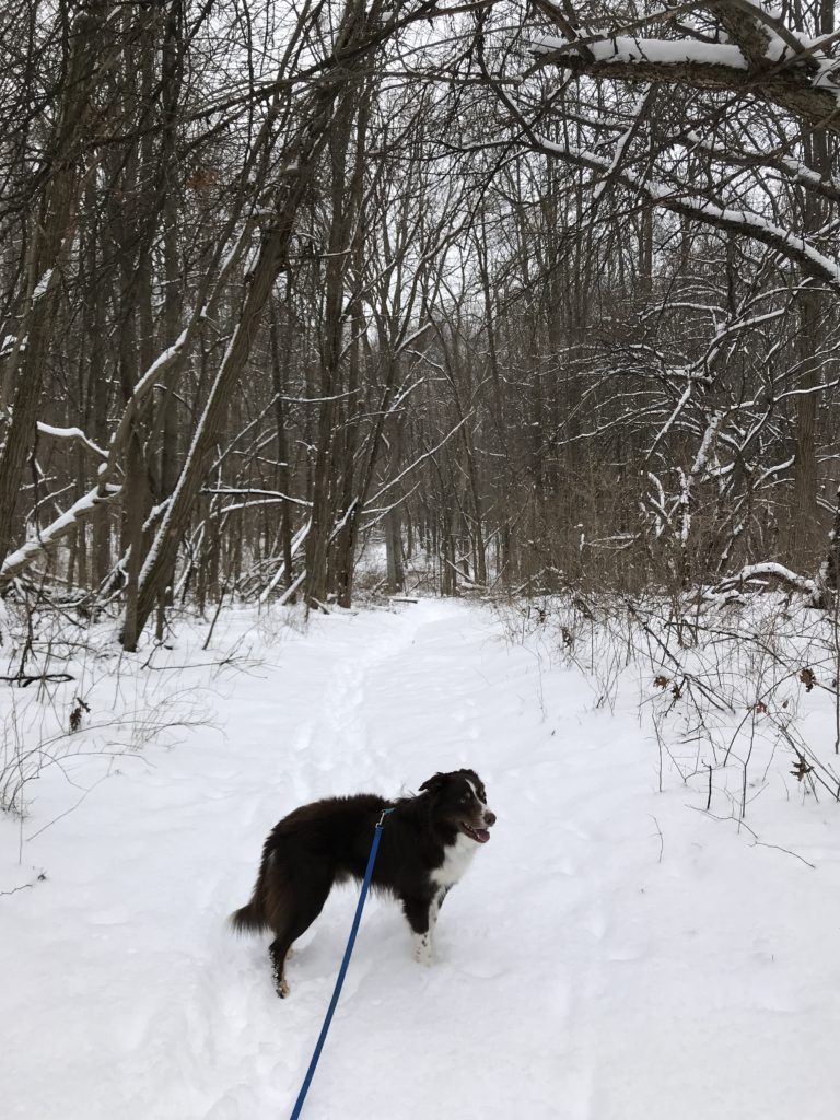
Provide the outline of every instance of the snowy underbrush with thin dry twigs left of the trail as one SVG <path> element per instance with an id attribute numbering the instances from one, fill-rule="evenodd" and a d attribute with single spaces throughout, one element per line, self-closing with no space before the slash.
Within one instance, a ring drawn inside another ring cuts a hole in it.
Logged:
<path id="1" fill-rule="evenodd" d="M 83 760 L 102 760 L 102 781 L 148 745 L 171 746 L 209 726 L 221 675 L 250 664 L 241 640 L 224 653 L 207 652 L 209 633 L 207 624 L 184 618 L 177 638 L 149 638 L 125 654 L 113 619 L 92 623 L 55 606 L 7 603 L 0 618 L 0 811 L 26 816 L 32 783 L 55 773 L 83 799 L 90 792 L 87 776 L 77 781 Z M 198 668 L 200 678 L 193 678 Z"/>

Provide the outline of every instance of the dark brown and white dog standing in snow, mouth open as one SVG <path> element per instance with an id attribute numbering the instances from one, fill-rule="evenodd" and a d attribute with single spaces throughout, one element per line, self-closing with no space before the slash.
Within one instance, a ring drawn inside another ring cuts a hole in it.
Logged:
<path id="1" fill-rule="evenodd" d="M 251 900 L 231 914 L 237 933 L 270 932 L 274 988 L 289 995 L 286 961 L 292 942 L 324 908 L 334 884 L 362 880 L 374 829 L 385 810 L 372 884 L 402 904 L 414 959 L 431 964 L 431 939 L 441 903 L 489 840 L 496 814 L 473 769 L 436 774 L 413 797 L 375 793 L 327 797 L 301 805 L 269 834 Z"/>

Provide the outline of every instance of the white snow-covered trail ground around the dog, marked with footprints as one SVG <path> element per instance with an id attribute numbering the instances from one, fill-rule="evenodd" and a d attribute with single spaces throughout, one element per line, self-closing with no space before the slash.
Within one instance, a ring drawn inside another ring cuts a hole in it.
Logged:
<path id="1" fill-rule="evenodd" d="M 217 661 L 249 626 L 232 613 L 212 651 L 170 663 Z M 221 672 L 157 672 L 215 726 L 68 759 L 28 786 L 22 822 L 0 819 L 6 1116 L 288 1116 L 355 893 L 330 898 L 279 1001 L 264 942 L 224 924 L 267 831 L 315 796 L 469 765 L 498 823 L 447 899 L 437 963 L 414 964 L 396 908 L 370 904 L 305 1116 L 836 1120 L 833 802 L 780 777 L 758 846 L 673 775 L 659 793 L 638 697 L 595 708 L 577 670 L 477 607 L 264 629 Z"/>

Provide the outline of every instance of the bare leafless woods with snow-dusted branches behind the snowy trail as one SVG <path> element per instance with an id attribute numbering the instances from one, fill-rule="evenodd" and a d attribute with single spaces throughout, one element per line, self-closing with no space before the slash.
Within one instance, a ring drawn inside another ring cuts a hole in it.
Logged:
<path id="1" fill-rule="evenodd" d="M 0 20 L 3 594 L 831 590 L 833 4 Z"/>

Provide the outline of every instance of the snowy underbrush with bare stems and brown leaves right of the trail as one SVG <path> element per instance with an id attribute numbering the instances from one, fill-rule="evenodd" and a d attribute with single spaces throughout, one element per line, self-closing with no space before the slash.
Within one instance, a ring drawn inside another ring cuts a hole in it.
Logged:
<path id="1" fill-rule="evenodd" d="M 791 597 L 547 597 L 500 607 L 507 634 L 575 665 L 596 708 L 633 704 L 659 753 L 659 786 L 744 820 L 775 788 L 840 800 L 837 619 Z"/>

